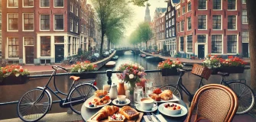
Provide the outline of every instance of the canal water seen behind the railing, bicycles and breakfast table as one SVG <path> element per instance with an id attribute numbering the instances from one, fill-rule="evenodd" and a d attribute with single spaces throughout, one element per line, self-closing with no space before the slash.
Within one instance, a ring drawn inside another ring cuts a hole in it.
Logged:
<path id="1" fill-rule="evenodd" d="M 116 66 L 113 68 L 106 68 L 102 67 L 101 71 L 105 71 L 107 69 L 116 70 L 118 69 L 118 66 L 120 66 L 122 63 L 125 62 L 134 62 L 139 63 L 141 66 L 144 67 L 144 69 L 151 70 L 151 69 L 157 69 L 156 62 L 147 62 L 144 58 L 141 58 L 140 56 L 134 56 L 133 53 L 130 51 L 125 52 L 124 56 L 119 56 L 118 60 L 116 61 Z M 162 77 L 160 75 L 160 72 L 154 72 L 154 73 L 147 73 L 146 78 L 148 80 L 151 80 L 154 82 L 154 85 L 165 85 L 165 84 L 172 84 L 175 85 L 177 83 L 177 76 L 168 76 L 168 77 Z M 187 72 L 185 75 L 183 75 L 183 84 L 186 86 L 186 88 L 191 92 L 195 93 L 198 84 L 199 84 L 199 77 L 196 75 L 191 74 L 190 72 Z M 243 74 L 232 74 L 228 77 L 228 79 L 246 79 L 247 84 L 250 85 L 250 69 L 246 69 Z M 29 90 L 36 88 L 37 86 L 44 86 L 47 83 L 47 78 L 44 79 L 31 79 L 30 82 L 24 84 L 24 85 L 7 85 L 7 86 L 0 86 L 0 103 L 7 102 L 7 101 L 18 101 L 22 95 L 24 95 L 25 92 L 28 92 Z M 210 84 L 210 83 L 219 83 L 221 80 L 221 76 L 219 75 L 211 75 L 209 80 L 204 80 L 204 84 Z M 102 89 L 102 85 L 107 84 L 107 76 L 105 74 L 97 75 L 96 78 L 97 81 L 97 87 Z M 115 74 L 112 75 L 112 82 L 117 83 L 118 78 Z M 70 89 L 70 85 L 72 84 L 72 81 L 69 79 L 69 76 L 58 76 L 57 77 L 57 88 L 60 89 L 61 92 L 68 92 Z M 50 88 L 53 88 L 53 82 L 50 83 Z M 53 95 L 52 95 L 53 96 Z M 65 98 L 65 96 L 62 95 L 62 98 Z M 53 101 L 58 100 L 55 96 L 53 96 Z M 183 93 L 183 100 L 187 101 L 186 95 Z M 10 104 L 5 106 L 0 106 L 0 120 L 18 117 L 16 112 L 16 106 L 17 104 Z M 50 110 L 49 113 L 57 113 L 57 112 L 66 112 L 66 108 L 60 108 L 59 104 L 53 104 L 53 108 Z"/>

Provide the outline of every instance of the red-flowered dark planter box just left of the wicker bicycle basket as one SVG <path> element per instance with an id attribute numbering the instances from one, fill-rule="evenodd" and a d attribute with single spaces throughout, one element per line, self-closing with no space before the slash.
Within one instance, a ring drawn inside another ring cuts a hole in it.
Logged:
<path id="1" fill-rule="evenodd" d="M 163 61 L 162 63 L 158 64 L 158 69 L 162 70 L 162 76 L 168 76 L 168 75 L 179 75 L 179 72 L 177 71 L 177 68 L 182 69 L 183 65 L 180 63 L 179 59 L 176 61 L 167 59 Z"/>

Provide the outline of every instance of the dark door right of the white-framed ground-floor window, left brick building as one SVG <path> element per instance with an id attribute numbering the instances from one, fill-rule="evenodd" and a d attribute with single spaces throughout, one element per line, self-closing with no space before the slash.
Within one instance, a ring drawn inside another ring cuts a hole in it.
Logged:
<path id="1" fill-rule="evenodd" d="M 55 63 L 60 63 L 64 59 L 64 45 L 55 45 Z"/>

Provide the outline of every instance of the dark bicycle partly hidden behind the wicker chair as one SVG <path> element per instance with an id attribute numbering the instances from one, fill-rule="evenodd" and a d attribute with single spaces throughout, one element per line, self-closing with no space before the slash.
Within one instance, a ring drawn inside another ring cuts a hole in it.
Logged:
<path id="1" fill-rule="evenodd" d="M 193 100 L 193 94 L 190 93 L 189 90 L 183 85 L 182 82 L 182 76 L 187 72 L 186 69 L 178 69 L 180 72 L 179 79 L 177 81 L 176 85 L 164 85 L 161 87 L 161 89 L 170 89 L 173 91 L 173 94 L 176 95 L 177 97 L 183 99 L 182 92 L 185 92 L 185 94 L 189 97 L 188 101 Z M 226 81 L 224 79 L 225 76 L 228 76 L 228 73 L 225 72 L 218 72 L 219 75 L 222 76 L 222 80 L 220 84 L 228 86 L 228 88 L 231 88 L 235 94 L 238 96 L 238 111 L 236 114 L 245 114 L 248 111 L 251 110 L 254 106 L 254 92 L 251 90 L 251 88 L 246 85 L 243 82 L 236 82 L 234 80 L 232 81 Z M 199 88 L 203 86 L 203 78 L 201 77 L 201 80 L 199 82 Z"/>

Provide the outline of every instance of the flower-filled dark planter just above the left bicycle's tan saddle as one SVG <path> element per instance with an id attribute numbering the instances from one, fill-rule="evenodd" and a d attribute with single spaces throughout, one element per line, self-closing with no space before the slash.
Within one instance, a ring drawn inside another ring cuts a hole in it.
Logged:
<path id="1" fill-rule="evenodd" d="M 80 79 L 96 79 L 96 73 L 91 73 L 97 70 L 97 65 L 92 64 L 90 61 L 76 63 L 71 66 L 71 72 L 77 72 L 76 76 Z"/>

